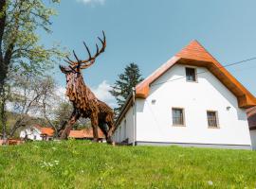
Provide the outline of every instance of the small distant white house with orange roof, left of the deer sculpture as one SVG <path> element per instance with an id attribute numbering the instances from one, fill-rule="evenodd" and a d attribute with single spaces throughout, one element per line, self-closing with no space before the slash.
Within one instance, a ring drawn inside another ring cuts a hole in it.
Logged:
<path id="1" fill-rule="evenodd" d="M 54 130 L 43 128 L 40 125 L 34 125 L 20 132 L 21 139 L 29 139 L 32 141 L 49 141 L 53 139 Z"/>

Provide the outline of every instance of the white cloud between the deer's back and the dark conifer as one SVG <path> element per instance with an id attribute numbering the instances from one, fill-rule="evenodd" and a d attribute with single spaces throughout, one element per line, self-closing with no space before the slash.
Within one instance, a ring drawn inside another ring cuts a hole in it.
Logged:
<path id="1" fill-rule="evenodd" d="M 103 102 L 108 104 L 110 107 L 117 107 L 117 102 L 115 97 L 109 93 L 111 90 L 110 84 L 103 80 L 97 87 L 92 87 L 92 92 Z"/>

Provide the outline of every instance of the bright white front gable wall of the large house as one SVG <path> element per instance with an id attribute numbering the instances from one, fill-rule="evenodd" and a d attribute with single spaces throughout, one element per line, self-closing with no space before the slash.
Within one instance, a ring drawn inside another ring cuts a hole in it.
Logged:
<path id="1" fill-rule="evenodd" d="M 197 73 L 205 71 L 197 68 Z M 236 96 L 210 72 L 198 75 L 197 82 L 187 82 L 185 76 L 185 65 L 176 64 L 155 80 L 147 99 L 137 99 L 136 140 L 250 146 L 247 114 L 238 108 Z M 174 107 L 185 110 L 185 127 L 173 126 Z M 208 128 L 208 110 L 218 112 L 220 129 Z"/>

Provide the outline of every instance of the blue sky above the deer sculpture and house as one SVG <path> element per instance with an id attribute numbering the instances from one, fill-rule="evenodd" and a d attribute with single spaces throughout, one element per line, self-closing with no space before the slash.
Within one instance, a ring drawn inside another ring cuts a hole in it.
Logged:
<path id="1" fill-rule="evenodd" d="M 96 93 L 111 101 L 105 91 L 125 65 L 136 62 L 147 77 L 193 39 L 224 65 L 256 57 L 255 8 L 255 0 L 62 0 L 56 7 L 59 15 L 52 19 L 53 33 L 41 37 L 42 43 L 60 42 L 85 59 L 82 41 L 95 51 L 103 29 L 106 51 L 83 75 Z M 228 70 L 256 95 L 256 60 Z M 54 76 L 64 86 L 58 69 Z"/>

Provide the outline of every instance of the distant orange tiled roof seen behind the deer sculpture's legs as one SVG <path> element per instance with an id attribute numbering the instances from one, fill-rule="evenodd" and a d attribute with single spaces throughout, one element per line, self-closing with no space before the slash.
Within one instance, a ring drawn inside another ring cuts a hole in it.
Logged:
<path id="1" fill-rule="evenodd" d="M 103 132 L 101 129 L 98 129 L 98 135 L 99 138 L 105 138 Z M 93 129 L 81 129 L 81 130 L 70 130 L 69 138 L 76 138 L 76 139 L 82 139 L 82 138 L 93 138 Z"/>

